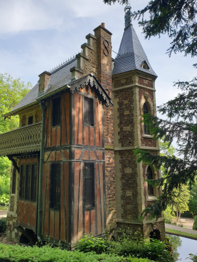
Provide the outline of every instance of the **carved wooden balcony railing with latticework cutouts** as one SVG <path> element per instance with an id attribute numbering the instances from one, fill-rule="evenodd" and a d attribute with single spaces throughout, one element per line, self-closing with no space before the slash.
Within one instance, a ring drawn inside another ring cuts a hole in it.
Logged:
<path id="1" fill-rule="evenodd" d="M 42 122 L 0 134 L 0 156 L 40 151 Z"/>

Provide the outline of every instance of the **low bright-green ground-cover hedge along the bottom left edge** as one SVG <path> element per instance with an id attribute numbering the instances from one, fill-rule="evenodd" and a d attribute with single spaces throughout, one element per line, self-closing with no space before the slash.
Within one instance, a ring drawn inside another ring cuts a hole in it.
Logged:
<path id="1" fill-rule="evenodd" d="M 153 262 L 148 259 L 124 258 L 113 254 L 95 252 L 83 253 L 76 251 L 51 248 L 46 245 L 41 248 L 34 246 L 23 247 L 19 245 L 0 244 L 0 261 L 10 262 Z"/>

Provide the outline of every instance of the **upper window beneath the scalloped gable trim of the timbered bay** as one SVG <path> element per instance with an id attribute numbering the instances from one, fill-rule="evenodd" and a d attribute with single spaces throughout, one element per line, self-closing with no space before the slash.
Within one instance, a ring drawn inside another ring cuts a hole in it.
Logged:
<path id="1" fill-rule="evenodd" d="M 84 122 L 94 126 L 94 99 L 84 96 Z"/>

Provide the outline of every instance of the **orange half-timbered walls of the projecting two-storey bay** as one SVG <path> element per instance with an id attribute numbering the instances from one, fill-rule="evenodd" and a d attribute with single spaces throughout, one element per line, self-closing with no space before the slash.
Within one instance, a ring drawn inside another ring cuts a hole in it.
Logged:
<path id="1" fill-rule="evenodd" d="M 58 97 L 58 96 L 56 96 Z M 53 97 L 46 101 L 42 178 L 42 238 L 70 243 L 106 228 L 103 104 L 91 88 L 60 97 L 60 123 L 53 126 Z M 85 123 L 84 97 L 93 100 L 94 123 Z M 86 163 L 94 165 L 94 205 L 85 204 Z M 59 164 L 59 208 L 51 207 L 51 165 Z"/>

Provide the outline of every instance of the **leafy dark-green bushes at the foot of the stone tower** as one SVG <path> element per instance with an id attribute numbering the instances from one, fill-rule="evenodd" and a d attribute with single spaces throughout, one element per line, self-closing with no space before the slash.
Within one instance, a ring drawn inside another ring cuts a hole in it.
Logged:
<path id="1" fill-rule="evenodd" d="M 77 249 L 80 251 L 94 251 L 98 254 L 108 252 L 110 254 L 127 257 L 128 260 L 126 261 L 132 261 L 129 260 L 131 258 L 147 258 L 159 262 L 171 262 L 172 256 L 170 252 L 167 251 L 168 246 L 169 245 L 159 240 L 149 242 L 136 237 L 127 237 L 124 234 L 123 237 L 120 237 L 117 241 L 85 235 L 84 238 L 77 243 Z"/>

